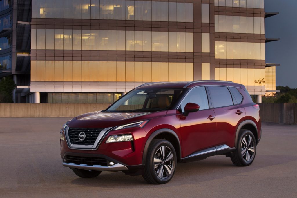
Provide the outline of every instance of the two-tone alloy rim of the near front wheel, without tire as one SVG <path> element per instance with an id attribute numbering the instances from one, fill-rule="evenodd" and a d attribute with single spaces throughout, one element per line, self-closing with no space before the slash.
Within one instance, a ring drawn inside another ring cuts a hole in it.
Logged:
<path id="1" fill-rule="evenodd" d="M 154 168 L 159 178 L 169 177 L 173 170 L 173 153 L 167 146 L 161 146 L 157 149 L 154 157 Z"/>

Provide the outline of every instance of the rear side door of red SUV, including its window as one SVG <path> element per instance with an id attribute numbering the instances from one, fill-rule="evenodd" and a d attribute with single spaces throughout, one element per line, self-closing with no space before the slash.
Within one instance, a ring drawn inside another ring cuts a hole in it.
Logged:
<path id="1" fill-rule="evenodd" d="M 233 87 L 208 86 L 208 91 L 217 119 L 216 145 L 226 144 L 232 148 L 238 123 L 245 117 L 244 107 L 240 104 L 242 96 Z M 240 94 L 241 97 L 237 95 L 238 100 L 241 98 L 240 102 L 236 101 L 235 94 Z"/>

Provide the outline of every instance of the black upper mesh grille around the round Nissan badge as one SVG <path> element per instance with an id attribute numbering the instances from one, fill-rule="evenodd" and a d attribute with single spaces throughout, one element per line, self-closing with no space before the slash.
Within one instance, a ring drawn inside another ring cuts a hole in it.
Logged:
<path id="1" fill-rule="evenodd" d="M 94 145 L 99 133 L 103 129 L 84 129 L 84 128 L 69 128 L 68 129 L 68 136 L 70 139 L 71 144 L 78 144 L 78 145 Z M 84 132 L 86 134 L 86 138 L 81 141 L 78 138 L 78 135 Z"/>

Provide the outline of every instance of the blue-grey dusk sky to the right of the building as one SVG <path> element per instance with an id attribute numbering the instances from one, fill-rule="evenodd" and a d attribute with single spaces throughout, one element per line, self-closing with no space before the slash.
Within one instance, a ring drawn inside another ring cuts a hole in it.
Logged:
<path id="1" fill-rule="evenodd" d="M 297 0 L 265 0 L 264 8 L 279 12 L 265 19 L 265 37 L 280 39 L 266 43 L 266 63 L 280 64 L 276 85 L 297 88 Z"/>

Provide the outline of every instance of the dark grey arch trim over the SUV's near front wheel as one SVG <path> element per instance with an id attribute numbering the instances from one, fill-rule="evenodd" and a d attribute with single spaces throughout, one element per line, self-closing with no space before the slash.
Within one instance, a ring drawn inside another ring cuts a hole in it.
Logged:
<path id="1" fill-rule="evenodd" d="M 148 150 L 149 150 L 149 145 L 151 144 L 151 141 L 159 134 L 161 133 L 169 133 L 169 134 L 172 134 L 177 142 L 178 142 L 178 151 L 179 151 L 179 156 L 177 156 L 178 160 L 181 159 L 181 144 L 180 144 L 180 141 L 179 141 L 179 138 L 178 138 L 178 135 L 176 134 L 176 132 L 174 132 L 173 130 L 171 129 L 158 129 L 157 131 L 153 132 L 149 138 L 146 140 L 146 145 L 144 146 L 144 149 L 143 149 L 143 155 L 142 155 L 142 164 L 146 164 L 146 155 L 148 153 Z"/>

